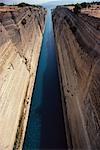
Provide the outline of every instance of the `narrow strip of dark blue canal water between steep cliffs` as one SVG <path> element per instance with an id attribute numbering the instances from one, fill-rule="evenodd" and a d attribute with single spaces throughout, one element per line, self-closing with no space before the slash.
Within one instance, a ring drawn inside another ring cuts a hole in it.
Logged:
<path id="1" fill-rule="evenodd" d="M 51 11 L 48 10 L 23 150 L 67 149 Z"/>

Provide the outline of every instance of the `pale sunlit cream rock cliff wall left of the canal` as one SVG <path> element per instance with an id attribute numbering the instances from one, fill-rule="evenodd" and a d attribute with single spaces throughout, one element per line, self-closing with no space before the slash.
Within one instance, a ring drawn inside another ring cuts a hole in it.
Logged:
<path id="1" fill-rule="evenodd" d="M 16 136 L 19 144 L 24 139 L 45 14 L 40 7 L 0 9 L 1 150 L 12 150 Z"/>

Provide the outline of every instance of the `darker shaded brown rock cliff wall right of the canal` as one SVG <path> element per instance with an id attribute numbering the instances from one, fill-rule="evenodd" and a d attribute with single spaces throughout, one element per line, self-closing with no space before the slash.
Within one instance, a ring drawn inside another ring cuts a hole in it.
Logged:
<path id="1" fill-rule="evenodd" d="M 53 24 L 72 147 L 100 149 L 100 19 L 58 7 Z"/>

